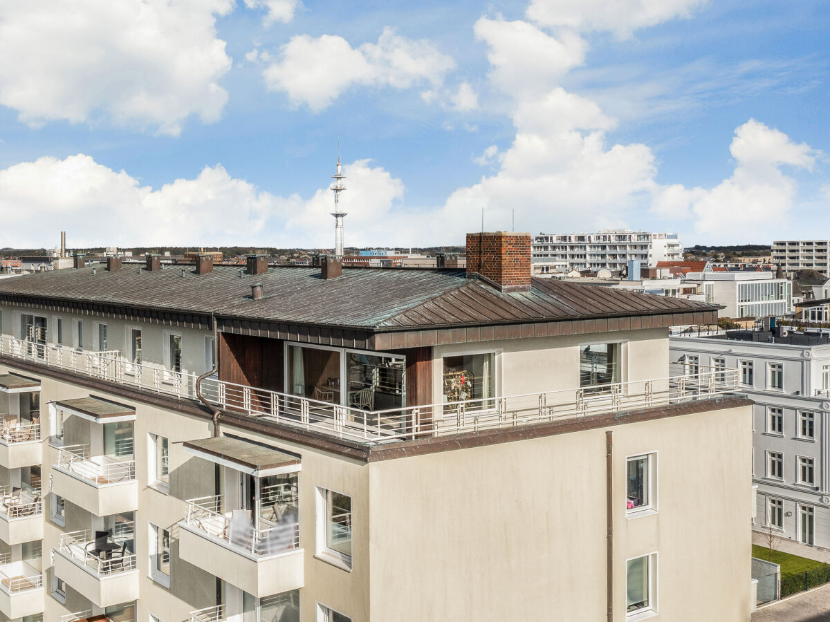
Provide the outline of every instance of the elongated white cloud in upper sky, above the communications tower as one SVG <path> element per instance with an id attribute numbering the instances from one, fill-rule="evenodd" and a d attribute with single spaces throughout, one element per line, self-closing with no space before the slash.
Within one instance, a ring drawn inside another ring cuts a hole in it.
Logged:
<path id="1" fill-rule="evenodd" d="M 286 93 L 295 105 L 320 111 L 351 85 L 398 90 L 427 85 L 428 93 L 442 85 L 455 66 L 431 41 L 407 39 L 387 27 L 377 44 L 356 48 L 342 36 L 294 36 L 262 75 L 270 90 Z"/>

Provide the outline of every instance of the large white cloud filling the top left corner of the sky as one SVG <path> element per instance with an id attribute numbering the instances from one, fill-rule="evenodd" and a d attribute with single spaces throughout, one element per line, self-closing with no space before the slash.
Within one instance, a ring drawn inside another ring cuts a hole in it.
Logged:
<path id="1" fill-rule="evenodd" d="M 0 104 L 32 126 L 63 119 L 178 134 L 219 118 L 231 68 L 215 18 L 232 0 L 0 3 Z"/>

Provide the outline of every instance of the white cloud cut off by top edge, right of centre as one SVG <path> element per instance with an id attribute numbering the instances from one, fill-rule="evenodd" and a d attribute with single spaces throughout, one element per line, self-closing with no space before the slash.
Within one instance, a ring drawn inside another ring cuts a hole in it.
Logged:
<path id="1" fill-rule="evenodd" d="M 531 0 L 527 17 L 546 27 L 630 36 L 638 28 L 691 17 L 706 0 Z"/>

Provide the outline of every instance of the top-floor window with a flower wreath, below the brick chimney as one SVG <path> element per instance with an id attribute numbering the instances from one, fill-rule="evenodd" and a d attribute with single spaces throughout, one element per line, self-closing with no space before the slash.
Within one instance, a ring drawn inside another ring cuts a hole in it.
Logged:
<path id="1" fill-rule="evenodd" d="M 444 357 L 443 367 L 445 403 L 472 400 L 468 409 L 491 407 L 491 399 L 496 397 L 495 352 Z"/>

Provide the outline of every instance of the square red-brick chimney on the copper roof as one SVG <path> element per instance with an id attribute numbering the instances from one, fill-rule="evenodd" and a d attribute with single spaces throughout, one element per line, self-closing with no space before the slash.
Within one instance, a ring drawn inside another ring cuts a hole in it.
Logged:
<path id="1" fill-rule="evenodd" d="M 466 274 L 503 292 L 530 291 L 530 233 L 468 233 Z"/>

